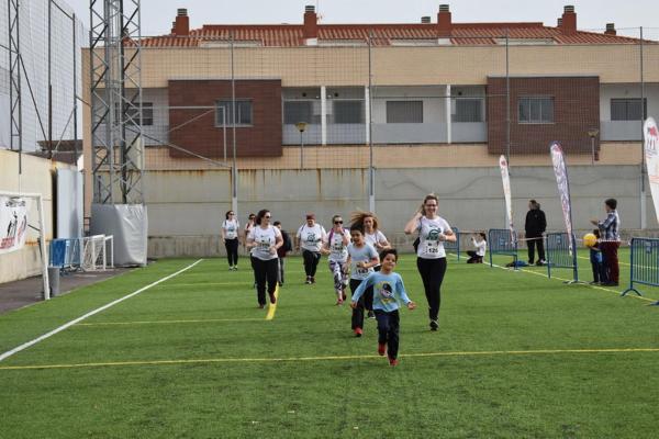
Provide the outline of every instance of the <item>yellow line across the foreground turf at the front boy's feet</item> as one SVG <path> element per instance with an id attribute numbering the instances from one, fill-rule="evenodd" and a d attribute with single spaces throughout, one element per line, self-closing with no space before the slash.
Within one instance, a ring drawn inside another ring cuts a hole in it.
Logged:
<path id="1" fill-rule="evenodd" d="M 551 354 L 591 354 L 591 353 L 656 353 L 659 348 L 603 348 L 603 349 L 530 349 L 530 350 L 485 350 L 485 351 L 444 351 L 402 353 L 399 358 L 432 358 L 432 357 L 503 357 L 503 356 L 551 356 Z M 327 356 L 327 357 L 288 357 L 288 358 L 200 358 L 191 360 L 153 360 L 153 361 L 114 361 L 97 363 L 71 364 L 30 364 L 5 365 L 0 370 L 29 369 L 81 369 L 122 365 L 172 365 L 172 364 L 204 364 L 204 363 L 258 363 L 258 362 L 308 362 L 332 360 L 375 360 L 382 361 L 377 354 L 367 356 Z"/>

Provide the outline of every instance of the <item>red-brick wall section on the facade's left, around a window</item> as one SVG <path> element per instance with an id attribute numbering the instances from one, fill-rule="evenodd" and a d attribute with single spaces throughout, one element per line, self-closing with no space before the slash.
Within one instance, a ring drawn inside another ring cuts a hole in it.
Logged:
<path id="1" fill-rule="evenodd" d="M 170 80 L 170 106 L 214 106 L 222 99 L 231 99 L 228 80 Z M 281 156 L 281 80 L 238 80 L 236 99 L 252 100 L 252 126 L 236 127 L 236 155 L 238 157 Z M 206 113 L 208 114 L 204 114 Z M 205 157 L 224 154 L 223 133 L 215 127 L 215 112 L 200 110 L 169 110 L 169 142 Z M 231 157 L 233 137 L 231 125 L 226 130 L 226 149 Z M 169 148 L 170 157 L 190 157 Z"/>

